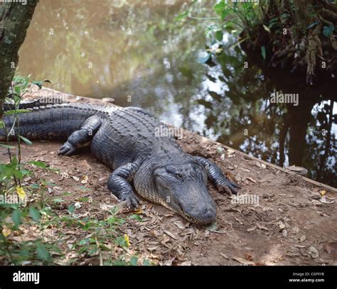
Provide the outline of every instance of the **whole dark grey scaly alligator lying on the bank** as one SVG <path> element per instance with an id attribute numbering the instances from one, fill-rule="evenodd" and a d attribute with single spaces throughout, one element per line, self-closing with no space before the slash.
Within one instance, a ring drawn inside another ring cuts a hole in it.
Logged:
<path id="1" fill-rule="evenodd" d="M 28 105 L 23 108 L 29 107 Z M 68 139 L 59 155 L 70 156 L 77 148 L 89 146 L 102 163 L 112 168 L 107 187 L 120 201 L 137 207 L 137 193 L 161 204 L 188 221 L 210 224 L 216 219 L 216 206 L 206 187 L 207 178 L 220 192 L 236 193 L 215 163 L 184 153 L 171 136 L 157 136 L 163 123 L 137 107 L 95 104 L 52 104 L 27 108 L 19 114 L 21 136 L 30 140 Z M 4 116 L 6 128 L 14 122 Z M 17 139 L 16 133 L 9 140 Z M 0 141 L 6 133 L 0 129 Z"/>

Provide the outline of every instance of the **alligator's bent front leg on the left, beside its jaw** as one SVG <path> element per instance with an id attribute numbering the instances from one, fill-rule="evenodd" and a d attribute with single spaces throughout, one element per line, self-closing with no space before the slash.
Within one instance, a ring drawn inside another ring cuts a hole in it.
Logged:
<path id="1" fill-rule="evenodd" d="M 129 184 L 134 179 L 134 174 L 139 168 L 139 163 L 127 163 L 114 170 L 107 181 L 107 187 L 119 201 L 126 201 L 127 207 L 137 207 L 138 197 L 134 194 Z"/>

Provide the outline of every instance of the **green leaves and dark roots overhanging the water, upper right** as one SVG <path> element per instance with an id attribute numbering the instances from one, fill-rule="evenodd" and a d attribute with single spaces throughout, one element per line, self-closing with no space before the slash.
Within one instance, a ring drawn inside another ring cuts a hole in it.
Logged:
<path id="1" fill-rule="evenodd" d="M 305 72 L 309 84 L 319 76 L 335 77 L 337 6 L 331 1 L 220 0 L 214 11 L 218 18 L 206 29 L 212 44 L 222 43 L 223 33 L 229 32 L 239 35 L 237 44 L 259 52 L 270 66 Z M 178 19 L 186 17 L 191 17 L 189 11 Z"/>

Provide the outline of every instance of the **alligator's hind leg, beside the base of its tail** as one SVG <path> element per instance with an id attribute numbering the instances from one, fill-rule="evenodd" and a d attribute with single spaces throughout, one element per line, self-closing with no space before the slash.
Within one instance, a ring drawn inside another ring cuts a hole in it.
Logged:
<path id="1" fill-rule="evenodd" d="M 100 116 L 90 116 L 78 131 L 70 134 L 68 140 L 60 147 L 58 155 L 70 156 L 80 148 L 89 143 L 102 124 Z"/>

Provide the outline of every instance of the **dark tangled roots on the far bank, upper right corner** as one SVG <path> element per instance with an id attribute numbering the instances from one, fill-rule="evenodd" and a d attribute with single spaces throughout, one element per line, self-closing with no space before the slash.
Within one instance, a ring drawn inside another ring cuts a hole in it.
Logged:
<path id="1" fill-rule="evenodd" d="M 242 33 L 242 37 L 259 35 L 244 49 L 260 51 L 264 46 L 269 66 L 306 73 L 308 84 L 316 77 L 336 77 L 336 4 L 295 0 L 292 6 L 289 1 L 270 1 L 262 13 L 263 23 Z M 265 26 L 271 27 L 269 33 Z"/>

